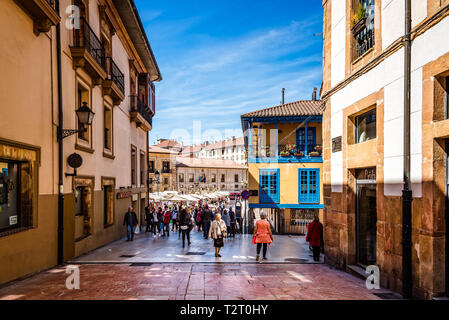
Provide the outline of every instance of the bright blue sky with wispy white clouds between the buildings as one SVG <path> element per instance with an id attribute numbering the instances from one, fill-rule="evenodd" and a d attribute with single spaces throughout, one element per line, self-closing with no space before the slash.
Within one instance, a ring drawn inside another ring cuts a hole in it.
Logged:
<path id="1" fill-rule="evenodd" d="M 241 136 L 241 114 L 278 105 L 282 88 L 291 102 L 321 85 L 319 0 L 135 3 L 164 78 L 150 143 Z"/>

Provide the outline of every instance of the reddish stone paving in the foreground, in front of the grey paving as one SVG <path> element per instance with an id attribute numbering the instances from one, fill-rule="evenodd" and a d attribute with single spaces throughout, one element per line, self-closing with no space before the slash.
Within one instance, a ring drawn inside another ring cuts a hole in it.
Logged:
<path id="1" fill-rule="evenodd" d="M 0 300 L 377 300 L 363 280 L 324 264 L 84 264 L 80 289 L 64 267 L 0 289 Z"/>

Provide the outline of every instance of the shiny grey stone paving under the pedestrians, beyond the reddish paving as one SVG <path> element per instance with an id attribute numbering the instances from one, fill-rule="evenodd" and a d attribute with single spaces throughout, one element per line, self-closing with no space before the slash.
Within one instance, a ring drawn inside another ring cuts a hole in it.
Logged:
<path id="1" fill-rule="evenodd" d="M 170 237 L 141 233 L 133 242 L 126 238 L 83 255 L 73 263 L 147 263 L 147 262 L 256 262 L 256 246 L 251 235 L 236 235 L 225 240 L 222 258 L 215 258 L 212 240 L 205 240 L 202 233 L 191 232 L 192 245 L 182 248 L 178 233 L 170 232 Z M 187 241 L 186 241 L 187 242 Z M 268 247 L 268 262 L 273 263 L 316 263 L 304 237 L 274 236 Z M 323 259 L 323 257 L 322 257 Z M 322 260 L 321 262 L 322 263 Z"/>

